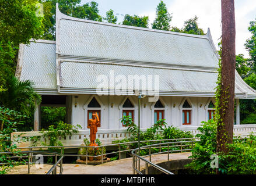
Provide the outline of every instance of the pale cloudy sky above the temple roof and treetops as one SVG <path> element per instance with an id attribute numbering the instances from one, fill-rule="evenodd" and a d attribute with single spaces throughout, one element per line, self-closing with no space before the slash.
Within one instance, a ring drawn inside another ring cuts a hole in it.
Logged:
<path id="1" fill-rule="evenodd" d="M 106 17 L 106 12 L 114 10 L 118 17 L 117 23 L 122 22 L 125 14 L 149 16 L 149 28 L 155 20 L 156 7 L 160 0 L 92 0 L 99 3 L 99 13 Z M 171 26 L 182 28 L 185 20 L 198 17 L 198 25 L 205 33 L 211 30 L 213 42 L 218 48 L 221 28 L 221 0 L 163 0 L 169 13 L 173 16 Z M 82 0 L 81 4 L 90 1 Z M 236 54 L 244 54 L 249 57 L 244 44 L 251 37 L 248 31 L 250 21 L 256 18 L 255 0 L 234 0 L 236 17 Z"/>

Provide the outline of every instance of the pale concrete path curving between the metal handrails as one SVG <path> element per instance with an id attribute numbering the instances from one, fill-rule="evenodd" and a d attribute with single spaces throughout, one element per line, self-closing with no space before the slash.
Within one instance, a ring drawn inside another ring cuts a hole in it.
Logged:
<path id="1" fill-rule="evenodd" d="M 170 160 L 187 159 L 191 152 L 171 153 Z M 149 158 L 146 158 L 149 159 Z M 153 163 L 167 161 L 167 154 L 153 155 Z M 43 168 L 35 165 L 31 166 L 30 174 L 46 174 L 51 165 L 45 164 Z M 145 163 L 141 161 L 141 170 L 145 168 Z M 63 164 L 63 174 L 132 174 L 132 158 L 115 160 L 96 166 L 86 164 Z M 9 174 L 27 174 L 27 165 L 20 165 L 12 169 Z M 59 169 L 57 170 L 59 172 Z"/>

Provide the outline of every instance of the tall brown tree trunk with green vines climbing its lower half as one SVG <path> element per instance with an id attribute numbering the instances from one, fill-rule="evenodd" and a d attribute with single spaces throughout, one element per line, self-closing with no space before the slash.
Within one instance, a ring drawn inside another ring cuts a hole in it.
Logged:
<path id="1" fill-rule="evenodd" d="M 226 144 L 233 142 L 234 79 L 236 69 L 236 25 L 234 0 L 222 0 L 222 70 L 220 120 L 217 128 L 216 152 L 227 153 Z"/>

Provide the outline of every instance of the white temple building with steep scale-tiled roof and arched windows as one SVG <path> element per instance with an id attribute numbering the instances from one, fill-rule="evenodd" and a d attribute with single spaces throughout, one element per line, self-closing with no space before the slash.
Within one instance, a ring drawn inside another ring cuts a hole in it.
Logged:
<path id="1" fill-rule="evenodd" d="M 16 77 L 33 81 L 42 95 L 34 131 L 40 130 L 40 106 L 66 106 L 67 122 L 83 127 L 80 139 L 89 134 L 92 112 L 100 116 L 100 138 L 123 138 L 122 116 L 138 124 L 134 90 L 146 95 L 141 128 L 166 119 L 170 126 L 196 130 L 211 119 L 218 62 L 209 29 L 206 35 L 191 35 L 94 22 L 66 16 L 57 6 L 56 41 L 21 44 Z M 239 99 L 255 99 L 256 91 L 237 71 L 235 84 L 240 124 Z"/>

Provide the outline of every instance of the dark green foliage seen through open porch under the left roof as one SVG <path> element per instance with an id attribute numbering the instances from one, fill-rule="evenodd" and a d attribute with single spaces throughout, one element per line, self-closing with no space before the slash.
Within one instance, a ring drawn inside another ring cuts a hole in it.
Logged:
<path id="1" fill-rule="evenodd" d="M 41 127 L 48 128 L 51 124 L 57 124 L 58 121 L 65 122 L 65 107 L 41 106 Z"/>

